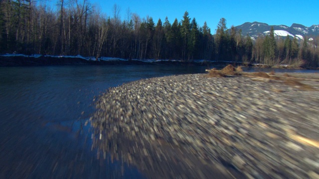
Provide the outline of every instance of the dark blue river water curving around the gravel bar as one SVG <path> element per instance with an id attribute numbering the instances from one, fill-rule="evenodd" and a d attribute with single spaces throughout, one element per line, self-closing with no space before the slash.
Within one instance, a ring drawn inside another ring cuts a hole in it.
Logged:
<path id="1" fill-rule="evenodd" d="M 97 158 L 85 125 L 93 100 L 123 83 L 190 73 L 205 73 L 205 67 L 0 68 L 0 178 L 143 178 L 134 167 Z"/>

